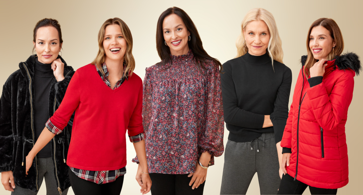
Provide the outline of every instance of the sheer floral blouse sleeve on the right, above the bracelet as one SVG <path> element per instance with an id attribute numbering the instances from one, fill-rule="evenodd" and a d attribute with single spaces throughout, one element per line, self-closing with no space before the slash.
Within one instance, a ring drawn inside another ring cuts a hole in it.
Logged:
<path id="1" fill-rule="evenodd" d="M 223 147 L 223 104 L 219 68 L 213 63 L 208 69 L 206 121 L 204 136 L 198 141 L 199 152 L 208 152 L 213 157 L 221 156 Z M 211 158 L 211 163 L 213 160 Z"/>

